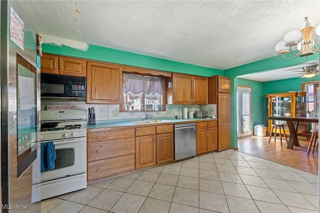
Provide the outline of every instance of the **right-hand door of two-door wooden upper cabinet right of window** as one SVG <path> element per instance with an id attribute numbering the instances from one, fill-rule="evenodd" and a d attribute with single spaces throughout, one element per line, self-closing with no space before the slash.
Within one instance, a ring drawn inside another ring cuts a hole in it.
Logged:
<path id="1" fill-rule="evenodd" d="M 192 76 L 192 104 L 208 103 L 208 78 Z"/>

